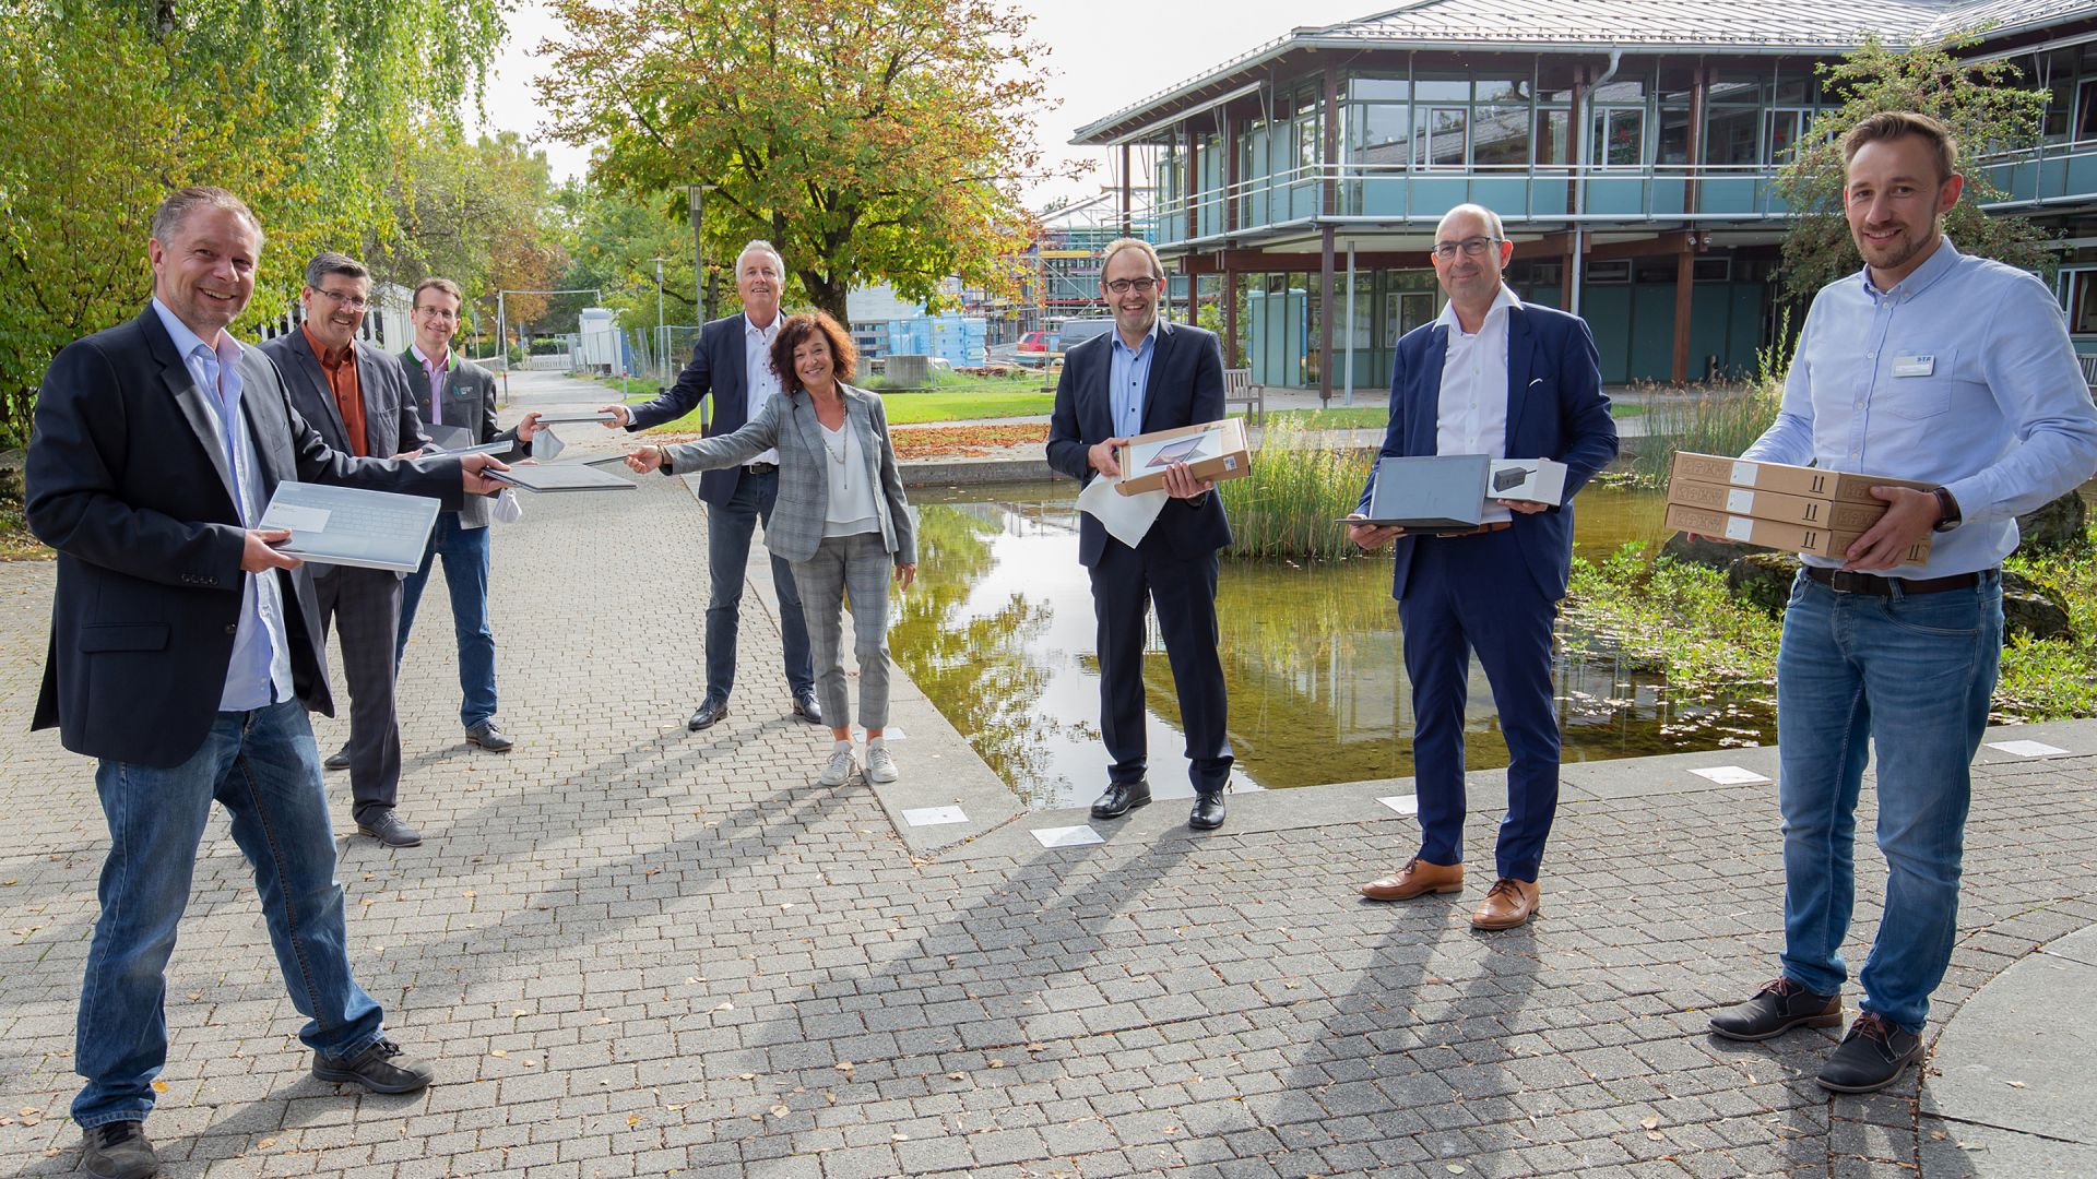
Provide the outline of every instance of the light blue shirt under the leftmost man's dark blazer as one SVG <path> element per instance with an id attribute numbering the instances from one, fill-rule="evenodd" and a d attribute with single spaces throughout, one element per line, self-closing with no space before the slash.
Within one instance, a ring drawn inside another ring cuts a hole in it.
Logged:
<path id="1" fill-rule="evenodd" d="M 187 323 L 157 298 L 153 310 L 159 313 L 161 327 L 174 340 L 189 380 L 203 392 L 203 407 L 212 415 L 212 430 L 233 468 L 233 506 L 241 516 L 241 527 L 254 527 L 268 503 L 262 501 L 262 474 L 256 459 L 254 438 L 247 434 L 247 415 L 241 413 L 241 342 L 231 331 L 218 334 L 218 348 L 212 348 Z M 233 631 L 233 661 L 226 665 L 226 686 L 218 696 L 218 711 L 250 711 L 291 699 L 291 644 L 283 627 L 283 590 L 277 575 L 262 577 L 245 573 L 241 577 L 241 619 Z"/>

